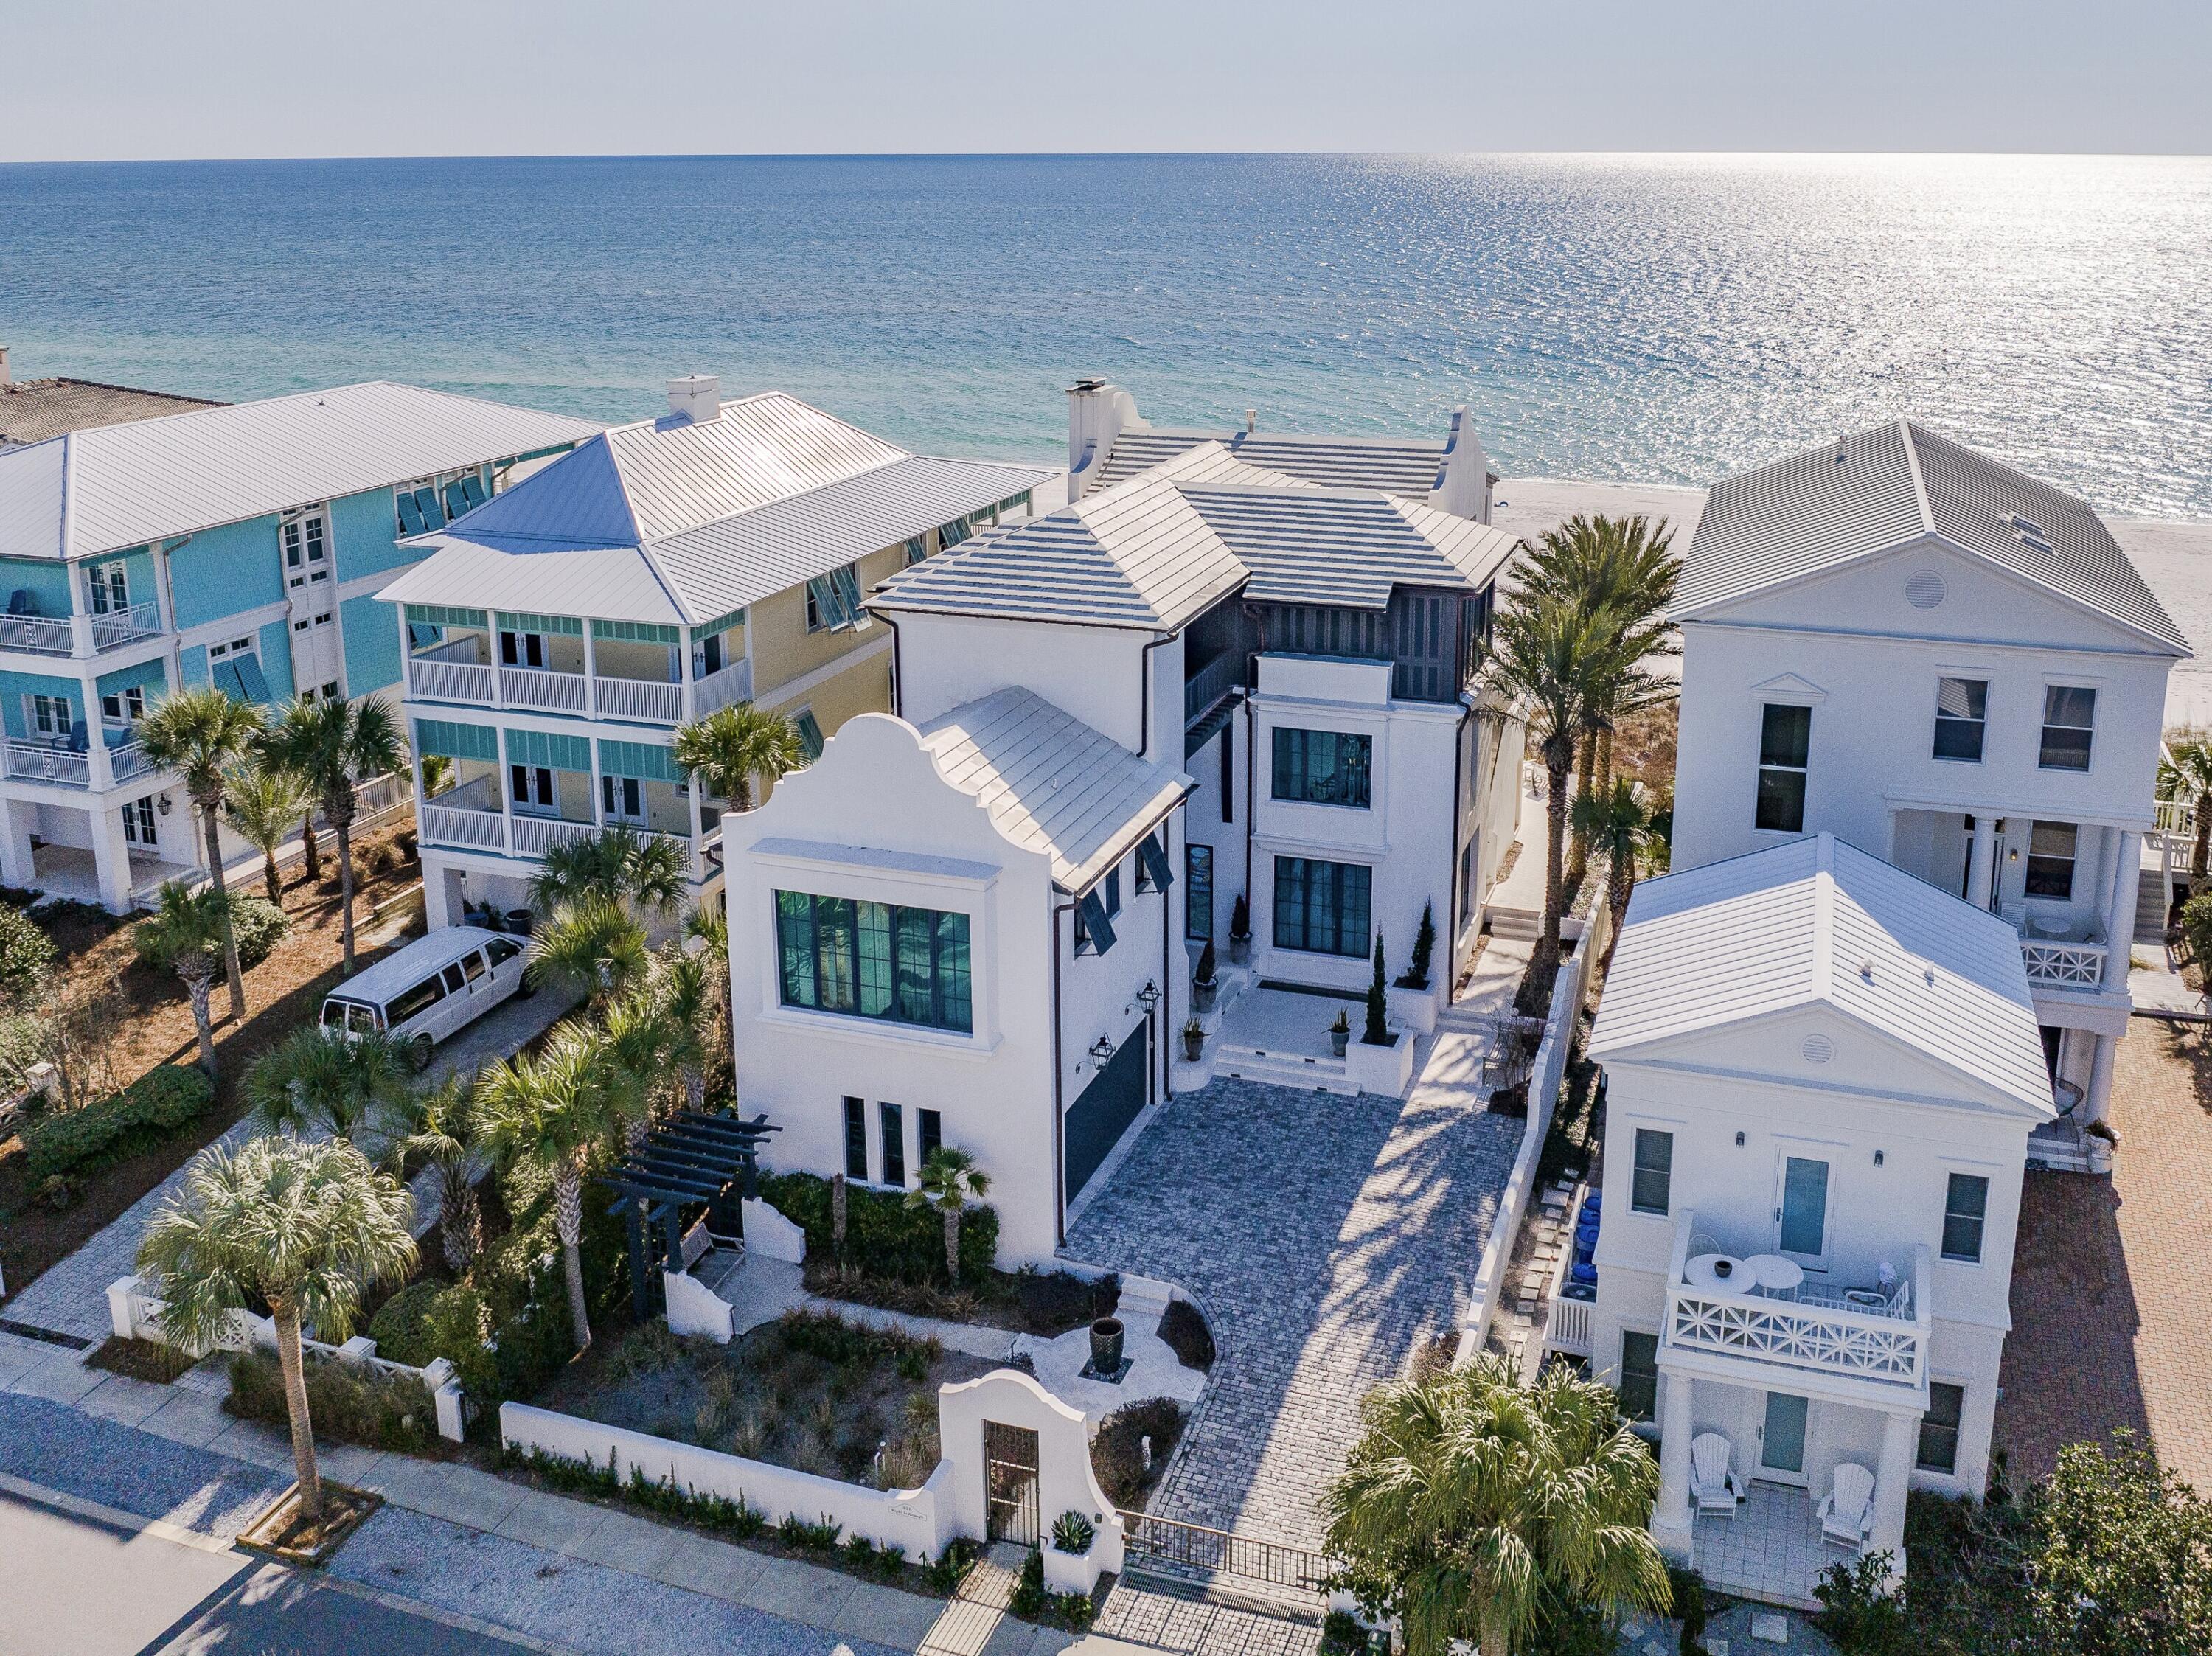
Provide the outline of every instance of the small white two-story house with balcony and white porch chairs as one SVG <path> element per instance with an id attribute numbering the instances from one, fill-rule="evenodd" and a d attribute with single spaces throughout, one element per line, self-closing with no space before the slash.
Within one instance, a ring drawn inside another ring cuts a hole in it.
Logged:
<path id="1" fill-rule="evenodd" d="M 1659 1426 L 1652 1534 L 1717 1585 L 1809 1603 L 1858 1548 L 1902 1568 L 1909 1488 L 1980 1497 L 2053 1114 L 2035 1019 L 2004 920 L 1834 834 L 1637 887 L 1590 1037 L 1590 1364 Z M 1845 1466 L 1856 1545 L 1814 1508 Z"/>

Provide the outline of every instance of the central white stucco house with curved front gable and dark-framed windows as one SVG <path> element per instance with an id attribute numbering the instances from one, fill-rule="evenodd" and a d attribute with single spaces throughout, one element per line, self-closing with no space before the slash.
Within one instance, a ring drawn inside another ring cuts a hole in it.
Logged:
<path id="1" fill-rule="evenodd" d="M 721 829 L 737 1088 L 779 1165 L 896 1187 L 956 1145 L 1002 1260 L 1042 1262 L 1166 1097 L 1241 893 L 1259 975 L 1336 991 L 1378 931 L 1405 971 L 1429 909 L 1449 999 L 1520 798 L 1522 727 L 1473 683 L 1517 542 L 1327 482 L 1338 449 L 1190 436 L 869 595 L 894 714 Z"/>

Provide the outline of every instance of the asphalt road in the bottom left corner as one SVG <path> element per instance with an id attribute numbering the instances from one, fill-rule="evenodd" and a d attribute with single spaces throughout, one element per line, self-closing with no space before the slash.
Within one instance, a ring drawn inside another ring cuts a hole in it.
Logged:
<path id="1" fill-rule="evenodd" d="M 392 1596 L 0 1492 L 0 1656 L 467 1656 L 533 1649 Z"/>

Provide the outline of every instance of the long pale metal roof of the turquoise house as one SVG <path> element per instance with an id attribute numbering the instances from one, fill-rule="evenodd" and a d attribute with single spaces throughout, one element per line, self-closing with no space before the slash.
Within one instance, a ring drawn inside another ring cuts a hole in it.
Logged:
<path id="1" fill-rule="evenodd" d="M 0 451 L 0 555 L 144 546 L 597 431 L 564 413 L 385 380 L 69 431 Z"/>

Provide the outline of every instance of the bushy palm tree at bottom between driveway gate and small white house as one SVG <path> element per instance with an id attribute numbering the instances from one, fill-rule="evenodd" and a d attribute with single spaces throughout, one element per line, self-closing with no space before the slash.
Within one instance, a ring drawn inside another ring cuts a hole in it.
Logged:
<path id="1" fill-rule="evenodd" d="M 1327 1548 L 1389 1603 L 1407 1656 L 1475 1643 L 1506 1656 L 1548 1616 L 1668 1610 L 1644 1530 L 1659 1466 L 1606 1386 L 1504 1358 L 1378 1386 L 1323 1499 Z"/>

